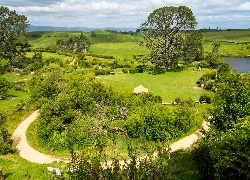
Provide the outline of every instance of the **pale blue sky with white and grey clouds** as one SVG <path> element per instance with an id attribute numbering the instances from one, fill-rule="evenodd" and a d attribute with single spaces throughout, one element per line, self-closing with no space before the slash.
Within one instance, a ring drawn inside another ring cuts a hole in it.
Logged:
<path id="1" fill-rule="evenodd" d="M 155 9 L 187 6 L 197 29 L 250 28 L 250 0 L 0 0 L 0 6 L 35 26 L 139 28 Z"/>

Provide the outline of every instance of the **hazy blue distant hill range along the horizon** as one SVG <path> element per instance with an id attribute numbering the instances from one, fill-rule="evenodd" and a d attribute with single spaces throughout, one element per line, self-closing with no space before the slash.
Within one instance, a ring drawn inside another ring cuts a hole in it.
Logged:
<path id="1" fill-rule="evenodd" d="M 83 31 L 83 32 L 89 32 L 93 30 L 112 30 L 117 32 L 125 32 L 125 31 L 133 31 L 135 32 L 137 28 L 88 28 L 88 27 L 53 27 L 53 26 L 33 26 L 30 25 L 28 31 Z"/>

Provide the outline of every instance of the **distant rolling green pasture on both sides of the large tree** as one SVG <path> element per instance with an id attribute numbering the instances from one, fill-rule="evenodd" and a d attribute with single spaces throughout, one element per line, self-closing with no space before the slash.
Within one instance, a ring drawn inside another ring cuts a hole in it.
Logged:
<path id="1" fill-rule="evenodd" d="M 90 51 L 95 54 L 106 54 L 118 59 L 130 60 L 133 55 L 148 54 L 149 51 L 136 44 L 142 40 L 137 33 L 119 34 L 96 30 L 96 37 L 90 32 L 84 32 L 91 42 Z M 245 57 L 250 55 L 250 31 L 213 31 L 202 32 L 205 52 L 212 51 L 212 41 L 221 42 L 222 56 Z M 30 44 L 33 48 L 47 47 L 59 38 L 69 35 L 80 35 L 80 32 L 46 32 L 40 38 L 33 38 Z"/>

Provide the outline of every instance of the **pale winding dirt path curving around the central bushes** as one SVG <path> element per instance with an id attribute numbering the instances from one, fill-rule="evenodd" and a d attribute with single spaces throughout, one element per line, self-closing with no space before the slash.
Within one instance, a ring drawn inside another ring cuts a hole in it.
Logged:
<path id="1" fill-rule="evenodd" d="M 13 139 L 13 146 L 16 147 L 19 151 L 19 155 L 26 159 L 27 161 L 33 162 L 33 163 L 39 163 L 39 164 L 49 164 L 54 161 L 60 162 L 69 162 L 69 160 L 66 159 L 60 159 L 57 157 L 49 156 L 46 154 L 43 154 L 41 152 L 38 152 L 37 150 L 33 149 L 26 140 L 26 131 L 29 127 L 29 125 L 36 119 L 38 116 L 39 111 L 34 111 L 29 117 L 27 117 L 15 130 L 13 133 L 12 139 Z M 205 130 L 208 129 L 207 122 L 203 122 L 202 124 L 203 128 Z M 201 134 L 199 131 L 196 131 L 195 133 L 186 136 L 179 141 L 176 141 L 175 143 L 170 145 L 171 151 L 176 151 L 178 149 L 185 149 L 190 147 L 195 141 L 197 141 L 201 137 Z M 157 156 L 157 152 L 154 153 L 154 156 Z M 144 158 L 144 157 L 141 157 Z M 129 162 L 129 160 L 127 161 Z M 107 165 L 110 165 L 112 161 L 108 161 Z M 124 165 L 124 161 L 121 160 L 120 164 Z"/>

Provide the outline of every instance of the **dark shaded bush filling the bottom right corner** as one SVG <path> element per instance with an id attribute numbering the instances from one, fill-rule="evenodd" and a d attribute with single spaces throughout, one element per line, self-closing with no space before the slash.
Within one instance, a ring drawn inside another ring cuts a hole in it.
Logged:
<path id="1" fill-rule="evenodd" d="M 192 158 L 203 179 L 249 179 L 250 119 L 226 133 L 210 131 L 192 148 Z"/>

